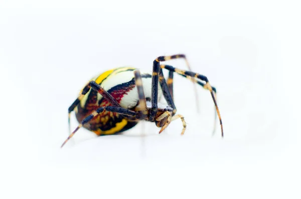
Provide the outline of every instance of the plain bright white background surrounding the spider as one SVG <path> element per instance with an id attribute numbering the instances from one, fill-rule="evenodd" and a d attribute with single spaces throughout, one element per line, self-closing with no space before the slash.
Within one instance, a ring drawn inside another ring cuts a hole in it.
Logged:
<path id="1" fill-rule="evenodd" d="M 2 198 L 299 198 L 296 2 L 1 1 Z M 124 135 L 81 129 L 59 148 L 91 77 L 177 53 L 217 88 L 224 139 L 218 125 L 211 134 L 209 92 L 198 87 L 198 112 L 175 75 L 184 136 L 180 120 L 161 135 L 144 122 Z"/>

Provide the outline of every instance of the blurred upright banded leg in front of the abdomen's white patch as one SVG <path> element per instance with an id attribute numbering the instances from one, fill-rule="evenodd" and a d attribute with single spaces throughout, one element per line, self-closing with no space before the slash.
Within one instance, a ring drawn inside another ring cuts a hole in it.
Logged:
<path id="1" fill-rule="evenodd" d="M 143 91 L 143 85 L 142 85 L 142 79 L 141 74 L 139 70 L 134 71 L 135 75 L 135 83 L 138 91 L 138 97 L 139 97 L 139 105 L 140 105 L 140 111 L 141 111 L 141 117 L 144 118 L 147 115 L 147 107 L 146 107 L 146 99 Z"/>

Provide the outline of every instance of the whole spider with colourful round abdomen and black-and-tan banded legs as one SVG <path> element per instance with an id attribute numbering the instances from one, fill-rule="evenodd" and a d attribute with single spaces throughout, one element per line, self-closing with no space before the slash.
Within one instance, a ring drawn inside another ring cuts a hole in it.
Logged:
<path id="1" fill-rule="evenodd" d="M 173 100 L 174 73 L 186 77 L 210 91 L 223 137 L 222 120 L 214 95 L 216 89 L 210 86 L 207 77 L 170 65 L 160 65 L 160 62 L 178 58 L 184 58 L 190 69 L 186 56 L 177 54 L 156 58 L 152 74 L 140 73 L 136 68 L 121 67 L 108 70 L 90 80 L 68 109 L 70 134 L 61 147 L 81 127 L 93 131 L 97 135 L 110 135 L 132 128 L 139 120 L 155 122 L 157 127 L 161 128 L 159 132 L 161 133 L 171 121 L 181 118 L 183 123 L 181 135 L 183 135 L 186 130 L 186 122 L 183 115 L 176 115 L 177 109 Z M 162 69 L 169 70 L 167 81 Z M 158 103 L 162 94 L 168 105 Z M 75 110 L 76 119 L 80 124 L 71 133 L 70 114 L 73 110 Z"/>

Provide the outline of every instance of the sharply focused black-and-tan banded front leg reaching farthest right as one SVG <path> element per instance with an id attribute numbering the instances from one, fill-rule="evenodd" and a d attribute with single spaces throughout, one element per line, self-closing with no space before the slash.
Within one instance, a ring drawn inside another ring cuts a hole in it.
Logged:
<path id="1" fill-rule="evenodd" d="M 160 61 L 159 58 L 157 58 L 158 59 L 158 63 Z M 157 61 L 157 60 L 155 60 L 155 61 Z M 191 72 L 191 71 L 180 70 L 180 69 L 174 68 L 174 67 L 169 66 L 169 65 L 162 65 L 162 68 L 165 68 L 165 69 L 167 69 L 169 71 L 176 72 L 176 73 L 178 73 L 178 74 L 180 74 L 182 76 L 194 77 L 194 78 L 197 78 L 197 79 L 200 79 L 200 80 L 206 82 L 206 84 L 203 85 L 203 88 L 209 90 L 210 93 L 211 93 L 211 96 L 212 96 L 212 99 L 213 99 L 213 102 L 214 102 L 214 105 L 215 105 L 215 108 L 216 108 L 216 112 L 217 112 L 217 115 L 218 115 L 219 120 L 220 120 L 222 137 L 223 137 L 224 136 L 224 131 L 223 131 L 223 124 L 222 124 L 221 115 L 220 115 L 220 112 L 219 112 L 219 109 L 218 109 L 218 106 L 217 106 L 217 103 L 216 103 L 216 100 L 215 100 L 215 96 L 214 96 L 214 93 L 213 93 L 213 88 L 210 86 L 208 78 L 206 76 L 200 75 L 198 73 L 194 73 L 194 72 Z"/>

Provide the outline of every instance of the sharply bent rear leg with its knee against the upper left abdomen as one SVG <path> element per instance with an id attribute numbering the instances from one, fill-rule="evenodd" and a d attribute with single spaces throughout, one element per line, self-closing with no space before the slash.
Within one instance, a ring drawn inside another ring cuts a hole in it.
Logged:
<path id="1" fill-rule="evenodd" d="M 95 81 L 90 81 L 86 84 L 86 86 L 81 90 L 81 94 L 78 96 L 78 98 L 71 104 L 71 106 L 68 108 L 68 125 L 69 125 L 69 134 L 71 134 L 70 129 L 70 114 L 74 110 L 74 108 L 80 103 L 82 98 L 88 93 L 90 89 L 93 89 L 97 91 L 99 94 L 102 95 L 103 98 L 105 98 L 107 101 L 109 101 L 113 106 L 118 106 L 118 102 L 108 93 L 106 92 L 101 86 L 99 86 Z"/>

